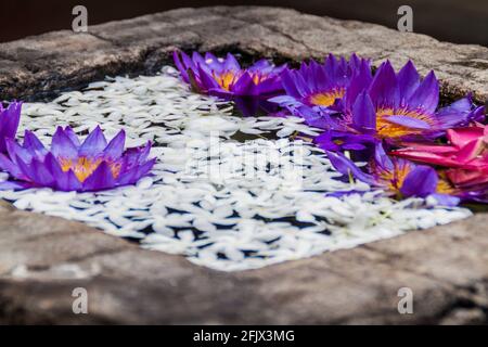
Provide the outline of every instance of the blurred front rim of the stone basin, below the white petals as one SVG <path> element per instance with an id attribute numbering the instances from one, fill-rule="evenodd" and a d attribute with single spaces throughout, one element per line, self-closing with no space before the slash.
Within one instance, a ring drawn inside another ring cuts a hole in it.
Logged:
<path id="1" fill-rule="evenodd" d="M 1 323 L 486 323 L 487 215 L 223 273 L 77 222 L 0 210 Z M 399 314 L 400 287 L 414 313 Z M 74 314 L 72 291 L 89 293 Z"/>

